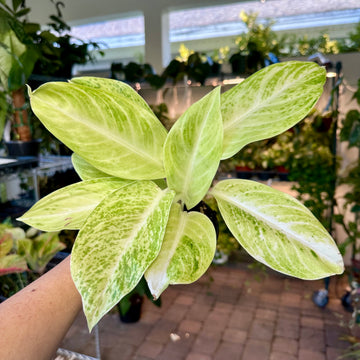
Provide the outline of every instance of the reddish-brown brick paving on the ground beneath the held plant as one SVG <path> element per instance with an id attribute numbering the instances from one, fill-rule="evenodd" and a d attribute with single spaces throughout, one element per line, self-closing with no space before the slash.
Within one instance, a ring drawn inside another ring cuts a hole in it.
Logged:
<path id="1" fill-rule="evenodd" d="M 120 322 L 114 311 L 99 323 L 102 360 L 336 360 L 349 344 L 340 326 L 344 279 L 332 278 L 326 309 L 311 296 L 323 282 L 267 270 L 212 267 L 191 285 L 171 286 L 162 307 L 147 299 L 141 320 Z M 95 356 L 94 335 L 77 318 L 63 348 Z"/>

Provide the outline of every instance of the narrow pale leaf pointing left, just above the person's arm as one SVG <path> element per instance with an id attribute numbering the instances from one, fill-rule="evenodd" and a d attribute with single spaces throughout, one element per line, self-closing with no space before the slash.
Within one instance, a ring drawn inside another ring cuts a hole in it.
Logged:
<path id="1" fill-rule="evenodd" d="M 80 229 L 102 199 L 133 182 L 114 177 L 81 181 L 40 199 L 18 220 L 43 231 Z"/>

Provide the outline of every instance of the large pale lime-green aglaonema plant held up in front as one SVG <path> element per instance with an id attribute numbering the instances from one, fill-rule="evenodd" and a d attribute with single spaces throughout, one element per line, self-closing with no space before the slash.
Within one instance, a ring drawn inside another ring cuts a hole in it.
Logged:
<path id="1" fill-rule="evenodd" d="M 44 231 L 80 229 L 71 274 L 90 330 L 143 275 L 158 298 L 169 284 L 204 274 L 216 232 L 191 209 L 207 194 L 258 261 L 301 279 L 343 272 L 335 242 L 296 199 L 250 180 L 213 186 L 222 159 L 303 119 L 325 75 L 310 62 L 269 66 L 223 94 L 215 88 L 169 132 L 119 81 L 82 77 L 29 90 L 34 113 L 74 151 L 82 181 L 44 197 L 20 220 Z"/>

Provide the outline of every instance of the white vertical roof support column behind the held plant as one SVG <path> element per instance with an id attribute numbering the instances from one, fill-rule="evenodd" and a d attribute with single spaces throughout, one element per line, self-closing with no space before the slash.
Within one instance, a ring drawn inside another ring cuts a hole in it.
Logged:
<path id="1" fill-rule="evenodd" d="M 171 60 L 169 12 L 152 1 L 147 3 L 150 6 L 144 9 L 145 62 L 161 74 Z"/>

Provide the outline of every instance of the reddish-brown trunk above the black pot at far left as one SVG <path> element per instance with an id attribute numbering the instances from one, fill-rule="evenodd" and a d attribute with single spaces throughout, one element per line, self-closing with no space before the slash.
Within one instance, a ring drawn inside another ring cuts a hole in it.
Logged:
<path id="1" fill-rule="evenodd" d="M 29 117 L 26 109 L 24 88 L 13 91 L 12 93 L 14 105 L 14 126 L 15 140 L 30 141 L 31 130 L 29 125 Z"/>

